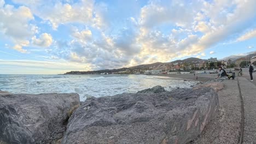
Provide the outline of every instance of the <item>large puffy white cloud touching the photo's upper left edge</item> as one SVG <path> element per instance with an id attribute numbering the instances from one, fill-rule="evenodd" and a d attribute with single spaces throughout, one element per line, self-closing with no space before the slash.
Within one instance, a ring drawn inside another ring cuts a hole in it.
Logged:
<path id="1" fill-rule="evenodd" d="M 28 39 L 37 31 L 37 27 L 30 24 L 34 19 L 31 10 L 24 6 L 3 5 L 4 1 L 0 3 L 0 34 L 13 41 L 14 46 L 10 48 L 26 53 L 23 46 L 28 46 Z"/>

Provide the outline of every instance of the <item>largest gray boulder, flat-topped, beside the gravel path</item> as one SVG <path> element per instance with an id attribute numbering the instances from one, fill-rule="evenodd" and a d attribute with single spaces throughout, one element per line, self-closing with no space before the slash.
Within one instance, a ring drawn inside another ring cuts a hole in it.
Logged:
<path id="1" fill-rule="evenodd" d="M 88 98 L 69 118 L 62 143 L 186 143 L 216 116 L 212 88 Z"/>

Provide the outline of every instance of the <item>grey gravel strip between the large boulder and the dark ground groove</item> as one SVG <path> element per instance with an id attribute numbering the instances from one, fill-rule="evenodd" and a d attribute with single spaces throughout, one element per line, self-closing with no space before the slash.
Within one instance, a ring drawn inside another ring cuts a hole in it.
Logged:
<path id="1" fill-rule="evenodd" d="M 220 109 L 202 134 L 190 143 L 238 143 L 240 138 L 241 102 L 236 80 L 223 81 L 225 88 L 218 92 Z"/>

